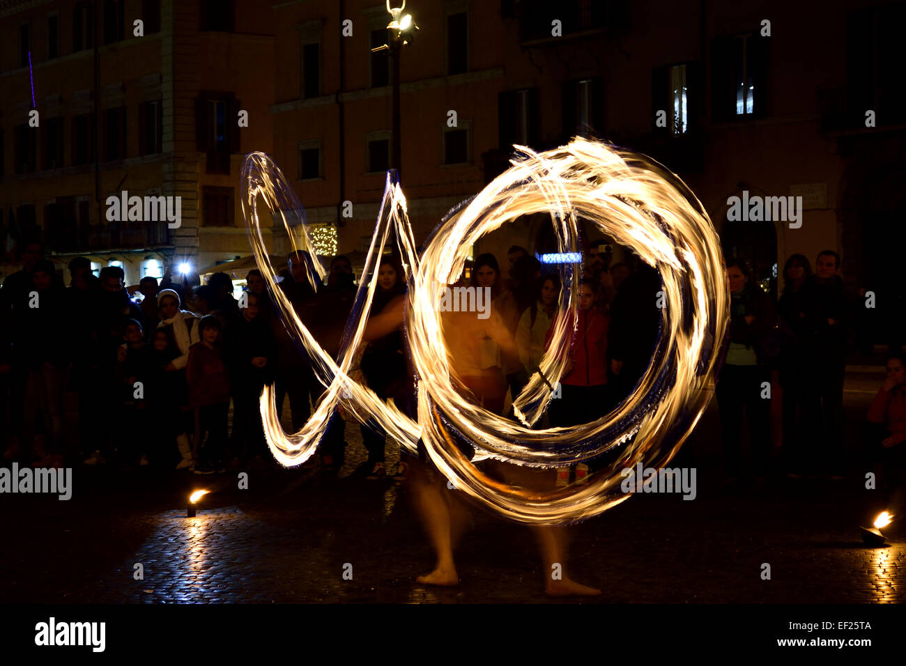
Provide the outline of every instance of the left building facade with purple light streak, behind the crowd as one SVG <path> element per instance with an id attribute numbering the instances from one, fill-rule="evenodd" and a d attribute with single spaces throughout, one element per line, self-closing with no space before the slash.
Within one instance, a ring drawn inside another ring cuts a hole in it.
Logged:
<path id="1" fill-rule="evenodd" d="M 4 272 L 33 237 L 128 284 L 248 254 L 236 185 L 243 150 L 271 150 L 272 27 L 251 3 L 0 4 Z M 115 219 L 123 191 L 178 197 L 178 221 Z"/>

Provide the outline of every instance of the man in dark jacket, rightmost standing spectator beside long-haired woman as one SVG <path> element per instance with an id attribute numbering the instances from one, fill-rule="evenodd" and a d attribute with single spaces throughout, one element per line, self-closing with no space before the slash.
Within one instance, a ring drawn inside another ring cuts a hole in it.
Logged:
<path id="1" fill-rule="evenodd" d="M 808 464 L 843 478 L 843 373 L 848 299 L 837 275 L 840 256 L 824 250 L 815 274 L 802 287 L 805 377 L 803 423 L 810 442 Z"/>

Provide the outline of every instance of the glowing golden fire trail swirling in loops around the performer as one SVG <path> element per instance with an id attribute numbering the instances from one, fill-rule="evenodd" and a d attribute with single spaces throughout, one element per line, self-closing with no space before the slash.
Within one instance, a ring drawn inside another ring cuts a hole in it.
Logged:
<path id="1" fill-rule="evenodd" d="M 439 471 L 480 504 L 516 521 L 553 525 L 596 516 L 626 499 L 629 496 L 620 491 L 622 468 L 640 461 L 645 467 L 662 467 L 689 436 L 708 405 L 708 381 L 728 324 L 729 294 L 718 236 L 707 213 L 675 174 L 629 151 L 583 139 L 542 153 L 517 150 L 521 159 L 514 160 L 510 169 L 475 198 L 451 211 L 420 257 L 412 240 L 406 199 L 392 174 L 388 178 L 363 275 L 376 275 L 381 252 L 394 229 L 401 256 L 410 266 L 405 325 L 418 380 L 417 422 L 347 375 L 367 323 L 376 279 L 367 284 L 363 280 L 359 286 L 338 362 L 323 352 L 276 288 L 256 199 L 264 198 L 272 215 L 283 218 L 287 232 L 290 225 L 283 211 L 301 211 L 302 207 L 272 160 L 261 153 L 246 158 L 243 211 L 255 257 L 284 321 L 313 359 L 315 373 L 327 387 L 313 417 L 289 436 L 280 426 L 273 389 L 265 387 L 261 396 L 265 434 L 282 464 L 297 465 L 313 454 L 334 407 L 342 403 L 361 421 L 373 417 L 410 451 L 421 438 Z M 583 217 L 658 269 L 662 280 L 666 307 L 650 366 L 631 396 L 612 413 L 575 428 L 529 427 L 551 400 L 550 387 L 564 373 L 572 344 L 578 321 L 573 293 L 579 280 L 572 268 L 564 266 L 561 271 L 563 297 L 550 347 L 541 362 L 547 381 L 535 373 L 515 399 L 521 425 L 460 395 L 443 334 L 441 290 L 461 275 L 468 247 L 507 222 L 534 213 L 550 214 L 559 252 L 579 251 L 576 220 Z M 304 230 L 302 243 L 300 249 L 314 258 Z M 314 264 L 310 272 L 313 284 L 314 272 L 323 275 L 316 259 Z M 458 444 L 473 447 L 475 457 L 467 459 Z M 588 484 L 546 492 L 501 483 L 475 465 L 482 458 L 496 458 L 533 467 L 562 467 L 617 447 L 622 449 L 617 450 L 612 466 L 594 474 Z"/>

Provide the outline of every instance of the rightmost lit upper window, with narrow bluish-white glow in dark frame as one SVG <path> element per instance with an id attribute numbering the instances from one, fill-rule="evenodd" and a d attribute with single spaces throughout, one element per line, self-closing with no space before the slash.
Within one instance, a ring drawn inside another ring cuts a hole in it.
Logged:
<path id="1" fill-rule="evenodd" d="M 715 38 L 711 103 L 716 121 L 765 115 L 766 43 L 756 33 Z"/>

